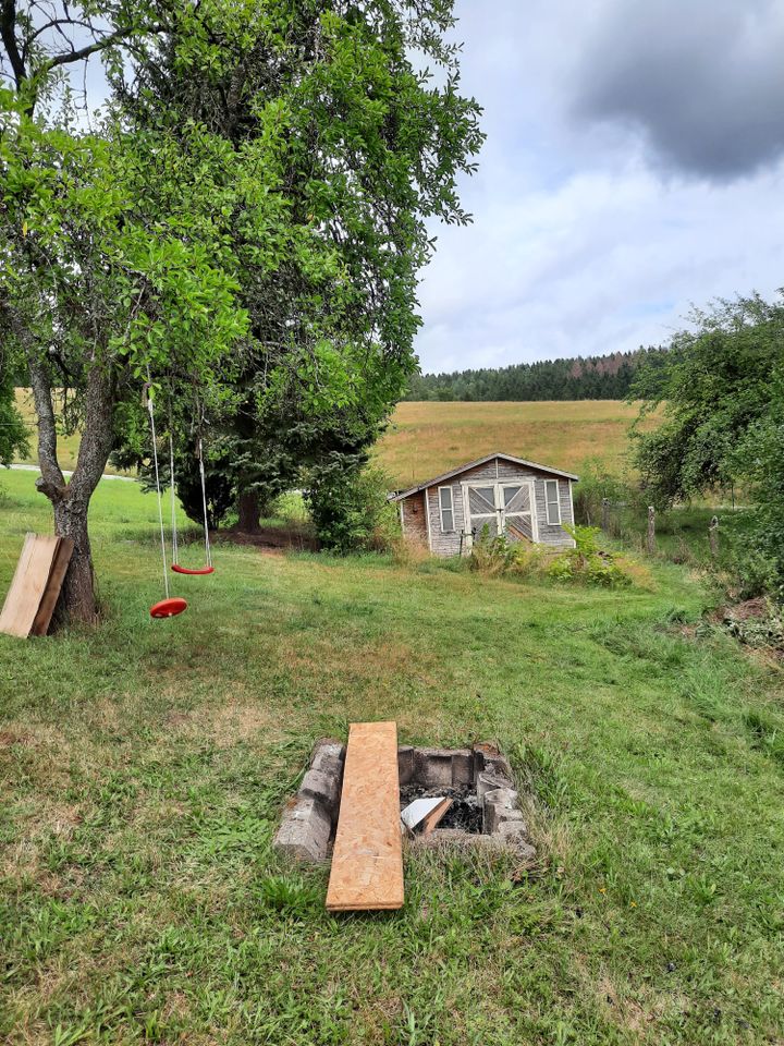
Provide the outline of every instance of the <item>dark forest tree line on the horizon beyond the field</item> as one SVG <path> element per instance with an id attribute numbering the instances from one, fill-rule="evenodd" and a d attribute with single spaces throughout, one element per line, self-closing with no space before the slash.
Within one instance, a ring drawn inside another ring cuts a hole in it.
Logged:
<path id="1" fill-rule="evenodd" d="M 418 374 L 406 400 L 622 400 L 640 365 L 656 367 L 665 349 L 637 349 L 605 356 L 516 363 L 453 374 Z"/>

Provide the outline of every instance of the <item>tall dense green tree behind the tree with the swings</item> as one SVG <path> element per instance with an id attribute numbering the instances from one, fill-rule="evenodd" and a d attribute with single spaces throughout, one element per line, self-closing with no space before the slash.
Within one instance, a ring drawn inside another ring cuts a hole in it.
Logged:
<path id="1" fill-rule="evenodd" d="M 287 216 L 307 244 L 265 272 L 252 243 L 237 248 L 254 351 L 213 423 L 252 527 L 259 501 L 303 466 L 341 453 L 351 466 L 403 393 L 426 221 L 467 220 L 455 180 L 474 166 L 478 108 L 460 96 L 444 44 L 450 2 L 267 0 L 236 23 L 220 4 L 177 16 L 133 83 L 113 77 L 123 111 L 142 127 L 196 120 L 235 149 L 272 118 Z M 438 82 L 415 51 L 441 68 Z"/>

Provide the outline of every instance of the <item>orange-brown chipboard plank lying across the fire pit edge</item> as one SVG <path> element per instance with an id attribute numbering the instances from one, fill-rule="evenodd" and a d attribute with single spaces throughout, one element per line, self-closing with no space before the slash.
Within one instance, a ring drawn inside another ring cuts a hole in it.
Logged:
<path id="1" fill-rule="evenodd" d="M 352 912 L 402 907 L 397 727 L 353 722 L 327 908 Z"/>

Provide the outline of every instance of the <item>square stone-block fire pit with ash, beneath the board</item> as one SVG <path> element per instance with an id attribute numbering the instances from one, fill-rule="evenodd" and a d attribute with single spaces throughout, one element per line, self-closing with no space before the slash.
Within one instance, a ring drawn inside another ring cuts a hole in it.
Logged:
<path id="1" fill-rule="evenodd" d="M 327 859 L 338 826 L 344 758 L 345 746 L 339 741 L 318 742 L 299 791 L 283 811 L 274 840 L 278 849 L 305 861 Z M 512 770 L 494 745 L 403 746 L 397 750 L 397 769 L 401 810 L 416 799 L 452 800 L 438 827 L 427 836 L 414 836 L 413 846 L 495 846 L 534 856 Z"/>

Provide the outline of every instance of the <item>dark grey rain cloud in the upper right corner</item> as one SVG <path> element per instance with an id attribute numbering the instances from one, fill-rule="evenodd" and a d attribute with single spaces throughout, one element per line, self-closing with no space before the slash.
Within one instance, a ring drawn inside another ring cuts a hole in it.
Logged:
<path id="1" fill-rule="evenodd" d="M 578 62 L 574 109 L 638 130 L 670 169 L 713 180 L 784 153 L 781 0 L 613 0 Z"/>

